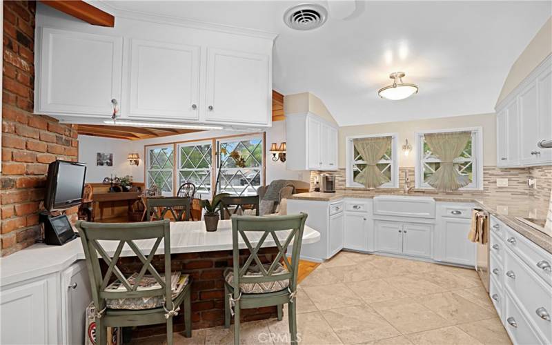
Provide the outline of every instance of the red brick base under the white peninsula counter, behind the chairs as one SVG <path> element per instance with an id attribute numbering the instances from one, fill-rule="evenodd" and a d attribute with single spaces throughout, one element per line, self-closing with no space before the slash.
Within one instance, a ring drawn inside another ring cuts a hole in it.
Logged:
<path id="1" fill-rule="evenodd" d="M 262 248 L 259 250 L 259 259 L 263 263 L 270 263 L 277 255 L 277 248 Z M 248 250 L 240 250 L 242 264 L 249 256 Z M 164 272 L 164 256 L 156 255 L 152 261 L 159 272 Z M 170 257 L 171 270 L 179 270 L 192 277 L 192 328 L 209 328 L 224 325 L 224 278 L 222 273 L 227 267 L 232 267 L 232 250 L 219 250 L 206 253 L 173 254 Z M 142 263 L 137 257 L 123 257 L 117 262 L 117 267 L 123 273 L 138 272 Z M 103 265 L 103 272 L 107 269 Z M 242 321 L 253 321 L 276 317 L 276 307 L 243 309 Z M 175 332 L 184 331 L 184 315 L 179 313 L 174 321 Z M 139 326 L 132 331 L 132 337 L 148 337 L 150 335 L 165 334 L 165 324 Z"/>

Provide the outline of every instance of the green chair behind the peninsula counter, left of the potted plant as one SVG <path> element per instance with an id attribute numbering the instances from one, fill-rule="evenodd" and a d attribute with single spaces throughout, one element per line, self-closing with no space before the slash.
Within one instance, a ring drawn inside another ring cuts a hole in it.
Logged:
<path id="1" fill-rule="evenodd" d="M 146 199 L 146 210 L 148 221 L 161 220 L 170 213 L 174 221 L 190 220 L 189 197 L 148 197 Z"/>

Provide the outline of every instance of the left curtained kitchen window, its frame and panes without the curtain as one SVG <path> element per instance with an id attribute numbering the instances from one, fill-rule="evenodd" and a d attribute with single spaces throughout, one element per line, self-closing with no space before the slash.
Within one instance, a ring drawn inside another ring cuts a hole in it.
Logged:
<path id="1" fill-rule="evenodd" d="M 397 164 L 397 135 L 362 135 L 357 137 L 347 137 L 346 139 L 346 186 L 352 188 L 365 188 L 362 184 L 355 182 L 355 177 L 366 168 L 366 161 L 359 154 L 353 142 L 355 139 L 373 138 L 373 137 L 391 137 L 391 142 L 383 157 L 378 161 L 377 168 L 389 179 L 382 188 L 398 188 L 399 186 L 399 168 Z"/>

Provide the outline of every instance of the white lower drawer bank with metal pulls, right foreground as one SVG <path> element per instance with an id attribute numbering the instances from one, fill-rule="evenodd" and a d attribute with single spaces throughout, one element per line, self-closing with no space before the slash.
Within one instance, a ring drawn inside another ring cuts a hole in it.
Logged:
<path id="1" fill-rule="evenodd" d="M 495 217 L 491 228 L 489 295 L 504 328 L 513 344 L 552 344 L 552 273 L 538 266 L 552 255 Z"/>

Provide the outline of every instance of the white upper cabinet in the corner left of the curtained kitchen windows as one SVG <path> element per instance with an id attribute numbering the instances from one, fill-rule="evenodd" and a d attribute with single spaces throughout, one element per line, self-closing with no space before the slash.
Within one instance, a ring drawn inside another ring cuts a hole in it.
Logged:
<path id="1" fill-rule="evenodd" d="M 337 126 L 313 115 L 286 116 L 289 170 L 337 170 Z"/>

